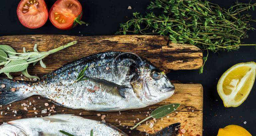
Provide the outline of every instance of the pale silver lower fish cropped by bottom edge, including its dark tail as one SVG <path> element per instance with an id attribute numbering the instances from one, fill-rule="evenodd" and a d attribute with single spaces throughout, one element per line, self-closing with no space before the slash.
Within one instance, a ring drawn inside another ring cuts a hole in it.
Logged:
<path id="1" fill-rule="evenodd" d="M 180 123 L 175 123 L 154 136 L 176 136 L 179 128 Z M 91 131 L 93 136 L 128 136 L 110 124 L 68 114 L 18 119 L 0 125 L 1 136 L 66 136 L 60 130 L 74 136 L 90 136 Z"/>

